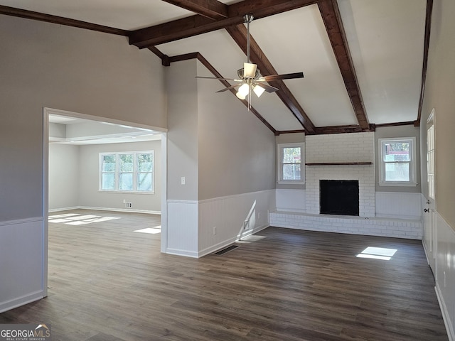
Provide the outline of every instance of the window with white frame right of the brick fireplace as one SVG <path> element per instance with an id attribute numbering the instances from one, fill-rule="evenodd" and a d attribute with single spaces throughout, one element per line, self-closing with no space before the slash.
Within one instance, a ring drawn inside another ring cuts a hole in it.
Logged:
<path id="1" fill-rule="evenodd" d="M 415 138 L 379 139 L 380 185 L 415 186 Z"/>

